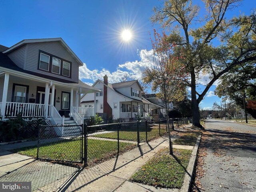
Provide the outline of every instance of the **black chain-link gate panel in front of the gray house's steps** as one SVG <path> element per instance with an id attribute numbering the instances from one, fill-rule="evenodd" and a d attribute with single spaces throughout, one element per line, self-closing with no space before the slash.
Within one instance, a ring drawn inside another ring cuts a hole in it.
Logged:
<path id="1" fill-rule="evenodd" d="M 82 163 L 83 125 L 39 126 L 37 159 Z"/>

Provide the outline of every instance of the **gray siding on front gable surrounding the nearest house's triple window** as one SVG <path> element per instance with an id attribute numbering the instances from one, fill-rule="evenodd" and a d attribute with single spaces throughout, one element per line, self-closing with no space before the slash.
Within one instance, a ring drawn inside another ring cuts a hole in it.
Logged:
<path id="1" fill-rule="evenodd" d="M 59 58 L 62 58 L 62 59 L 72 62 L 71 78 L 61 76 L 58 74 L 54 74 L 54 73 L 50 73 L 50 72 L 43 71 L 43 70 L 38 70 L 39 50 L 48 52 L 49 54 L 55 55 Z M 62 78 L 62 79 L 78 82 L 78 75 L 79 75 L 78 63 L 71 56 L 71 54 L 60 44 L 60 42 L 42 42 L 42 43 L 28 44 L 25 70 L 30 70 L 32 72 L 38 72 L 41 74 L 50 75 L 50 76 L 54 76 L 57 78 Z"/>

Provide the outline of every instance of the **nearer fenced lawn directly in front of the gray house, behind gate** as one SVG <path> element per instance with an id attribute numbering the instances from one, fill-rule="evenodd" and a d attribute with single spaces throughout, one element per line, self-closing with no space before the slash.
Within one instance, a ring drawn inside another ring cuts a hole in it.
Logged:
<path id="1" fill-rule="evenodd" d="M 120 142 L 120 152 L 134 148 L 136 145 Z M 22 155 L 36 158 L 37 146 L 25 147 L 13 150 Z M 108 159 L 117 154 L 117 142 L 106 140 L 88 139 L 88 163 L 94 163 Z M 39 157 L 62 160 L 80 160 L 80 140 L 64 140 L 58 143 L 48 143 L 39 148 Z"/>

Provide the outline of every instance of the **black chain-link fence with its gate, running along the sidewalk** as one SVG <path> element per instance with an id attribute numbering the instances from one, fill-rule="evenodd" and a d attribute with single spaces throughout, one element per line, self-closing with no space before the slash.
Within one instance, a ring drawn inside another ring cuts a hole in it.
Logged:
<path id="1" fill-rule="evenodd" d="M 188 124 L 188 119 L 170 119 L 169 124 L 170 128 Z M 163 119 L 94 126 L 40 126 L 37 158 L 94 165 L 167 133 L 167 121 Z"/>

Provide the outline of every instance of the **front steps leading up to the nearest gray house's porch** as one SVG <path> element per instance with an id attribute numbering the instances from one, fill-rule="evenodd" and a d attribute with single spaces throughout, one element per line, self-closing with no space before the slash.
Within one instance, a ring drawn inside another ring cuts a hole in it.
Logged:
<path id="1" fill-rule="evenodd" d="M 73 118 L 65 118 L 64 125 L 66 125 L 66 127 L 63 128 L 62 137 L 79 136 L 81 134 L 80 126 L 74 126 L 77 125 L 77 123 Z M 68 125 L 70 125 L 70 127 Z"/>

